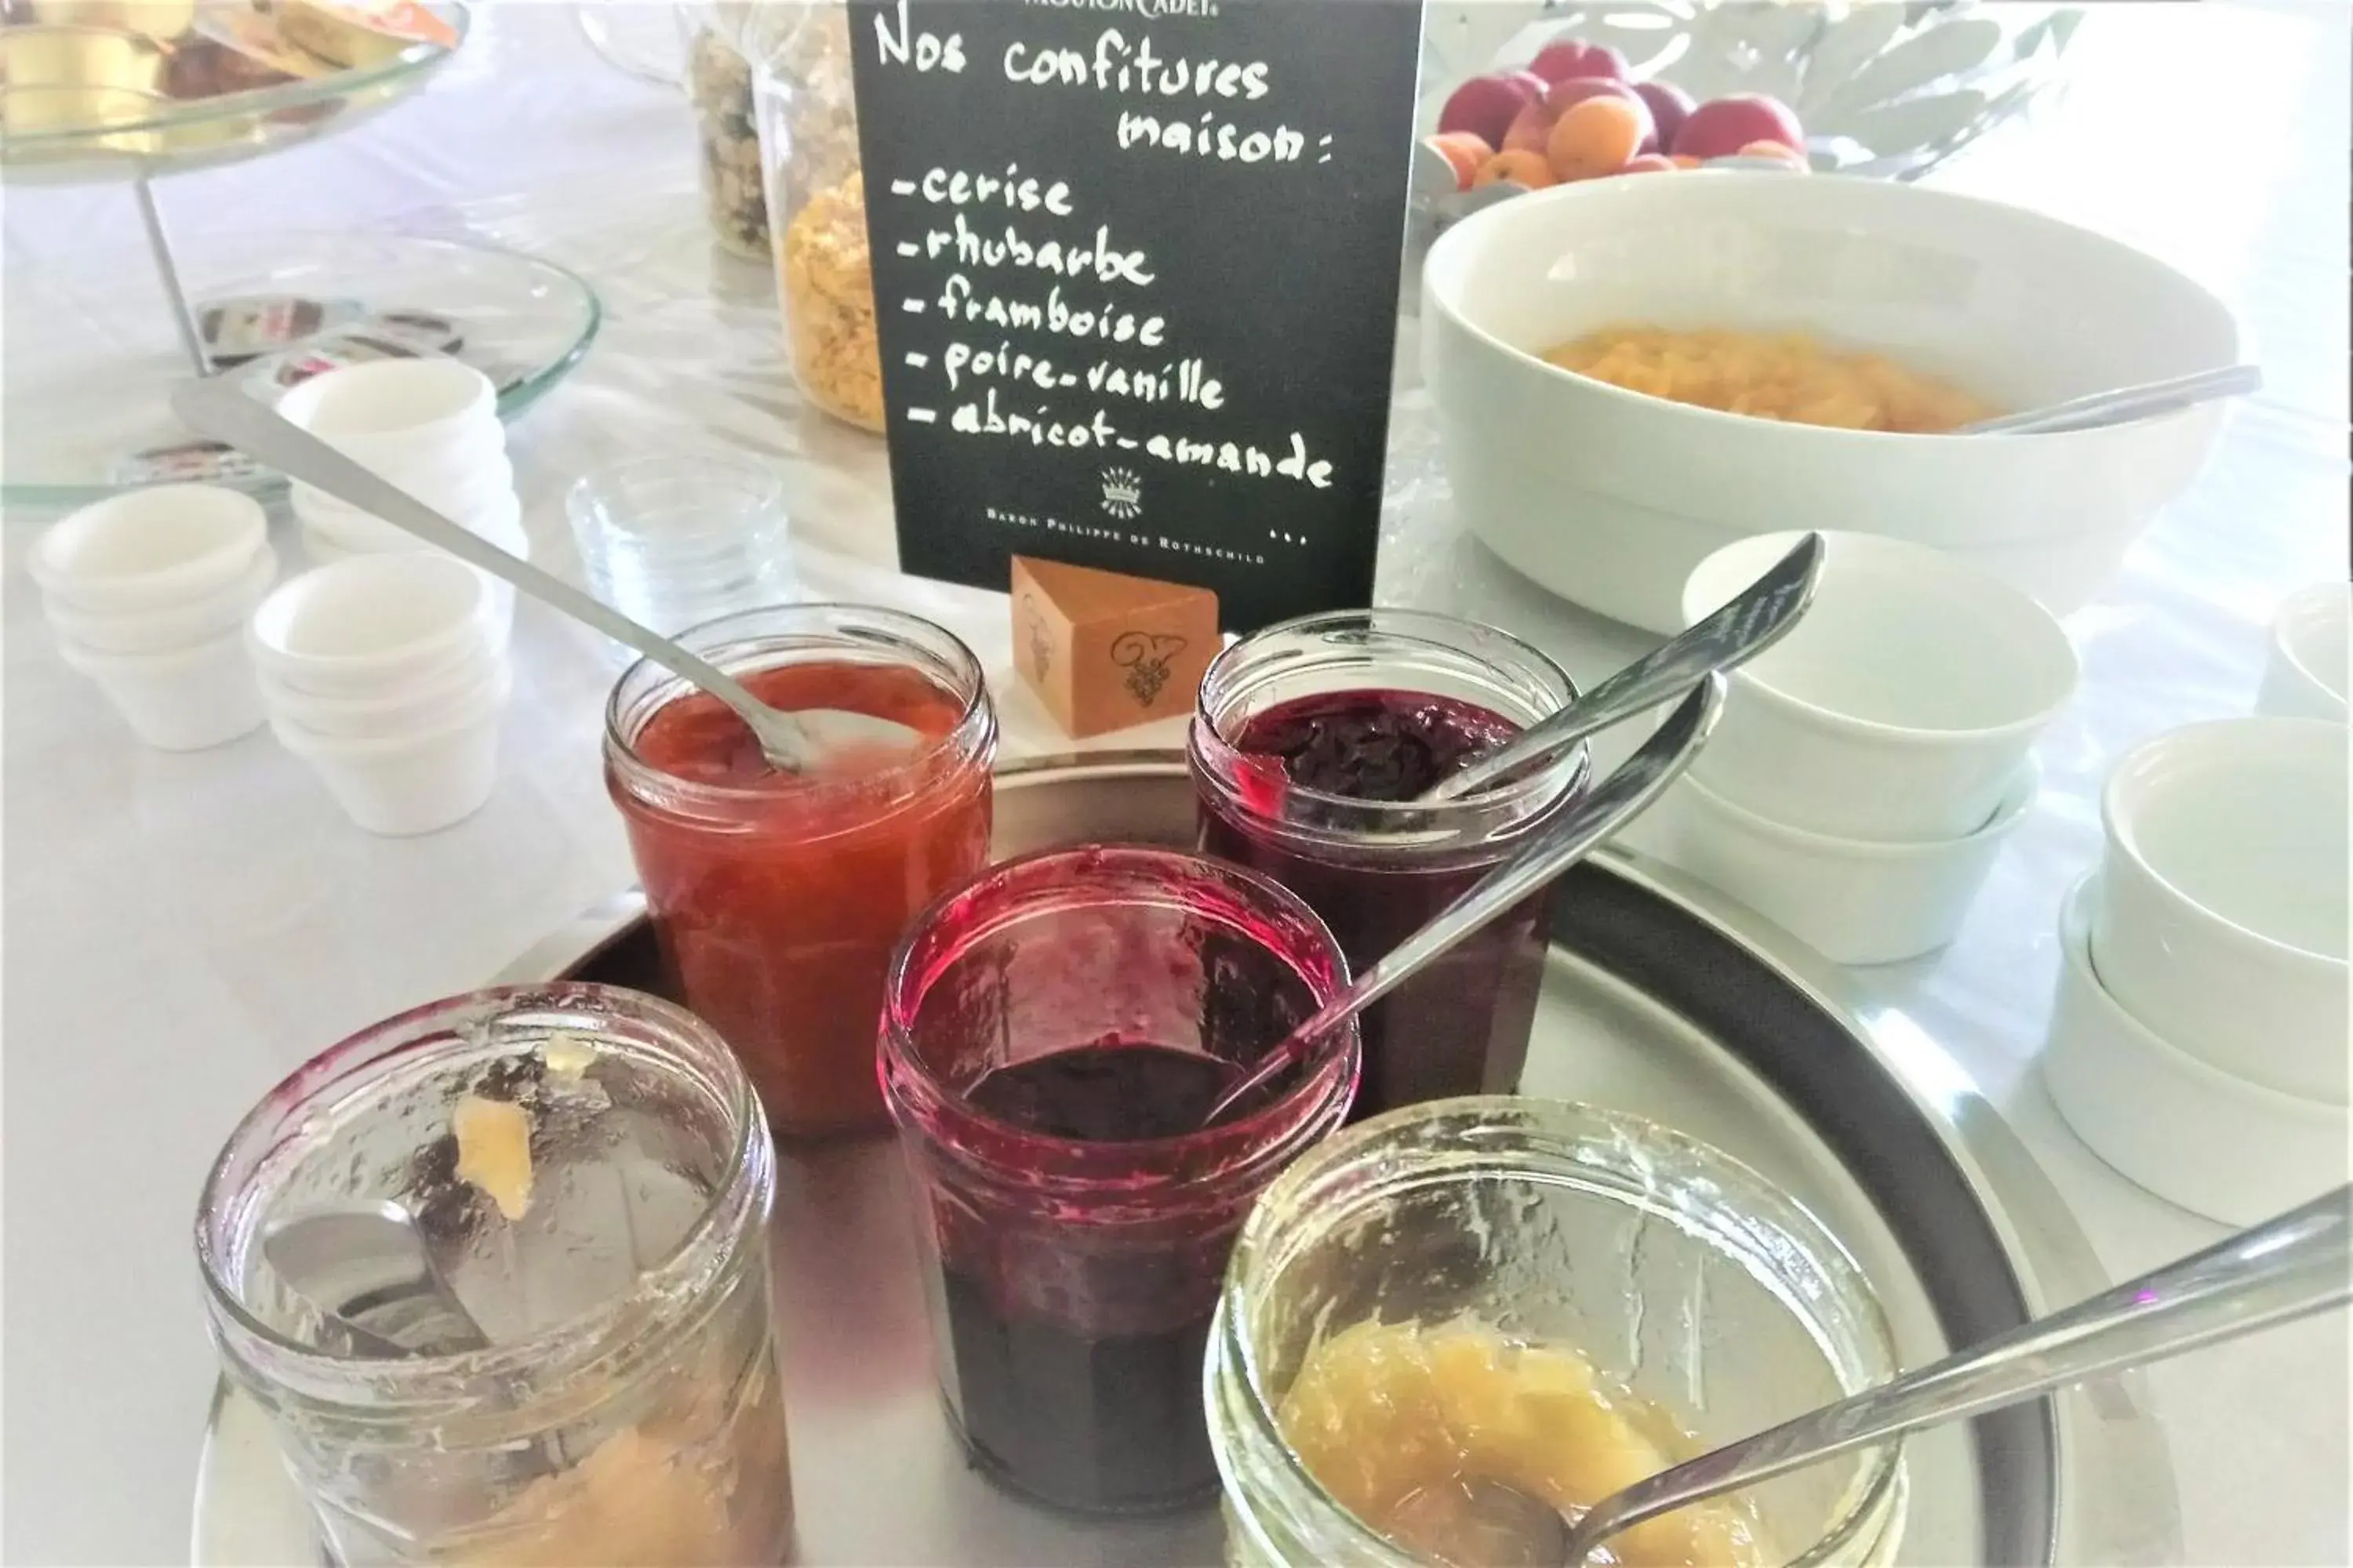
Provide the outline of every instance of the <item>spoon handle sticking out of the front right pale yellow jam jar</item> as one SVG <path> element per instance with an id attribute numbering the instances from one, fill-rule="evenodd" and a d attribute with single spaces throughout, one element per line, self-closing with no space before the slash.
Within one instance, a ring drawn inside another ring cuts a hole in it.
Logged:
<path id="1" fill-rule="evenodd" d="M 1579 1568 L 1605 1537 L 1849 1448 L 2049 1394 L 2101 1373 L 2292 1324 L 2353 1300 L 2353 1187 L 2339 1187 L 2202 1253 L 2021 1324 L 1812 1415 L 1661 1469 L 1605 1497 L 1567 1533 Z"/>

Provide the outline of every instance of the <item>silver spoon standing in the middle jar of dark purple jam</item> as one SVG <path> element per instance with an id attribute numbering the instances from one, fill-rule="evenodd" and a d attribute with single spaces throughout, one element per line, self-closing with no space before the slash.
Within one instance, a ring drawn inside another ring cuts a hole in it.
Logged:
<path id="1" fill-rule="evenodd" d="M 1562 811 L 1560 820 L 1548 825 L 1527 849 L 1480 877 L 1468 893 L 1440 910 L 1431 924 L 1414 931 L 1388 957 L 1360 973 L 1348 990 L 1308 1013 L 1233 1088 L 1217 1098 L 1200 1124 L 1214 1124 L 1259 1088 L 1280 1079 L 1318 1039 L 1398 990 L 1424 964 L 1445 957 L 1504 910 L 1593 853 L 1602 839 L 1654 802 L 1659 790 L 1675 783 L 1699 752 L 1701 741 L 1715 729 L 1715 715 L 1722 708 L 1725 677 L 1704 675 L 1699 689 L 1682 698 L 1675 712 L 1666 715 L 1666 724 L 1642 743 L 1642 750 L 1619 764 L 1584 799 Z"/>

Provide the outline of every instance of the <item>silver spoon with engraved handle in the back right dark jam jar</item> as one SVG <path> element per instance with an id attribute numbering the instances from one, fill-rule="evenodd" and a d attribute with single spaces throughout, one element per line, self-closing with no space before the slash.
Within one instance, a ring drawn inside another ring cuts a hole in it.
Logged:
<path id="1" fill-rule="evenodd" d="M 1475 757 L 1471 766 L 1438 780 L 1414 802 L 1438 804 L 1475 795 L 1511 773 L 1553 762 L 1586 736 L 1682 696 L 1708 675 L 1748 663 L 1781 642 L 1814 602 L 1824 555 L 1821 534 L 1807 534 L 1713 616 L 1633 661 L 1560 712 Z"/>

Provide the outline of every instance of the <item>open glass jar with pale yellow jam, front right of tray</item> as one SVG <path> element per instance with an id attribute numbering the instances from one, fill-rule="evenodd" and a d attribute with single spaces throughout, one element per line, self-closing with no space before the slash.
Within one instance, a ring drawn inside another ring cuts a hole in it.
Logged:
<path id="1" fill-rule="evenodd" d="M 1207 1366 L 1226 1559 L 1426 1563 L 1442 1552 L 1431 1530 L 1459 1521 L 1421 1512 L 1407 1486 L 1447 1495 L 1449 1481 L 1487 1479 L 1574 1512 L 1649 1474 L 1633 1462 L 1645 1448 L 1664 1467 L 1894 1366 L 1864 1272 L 1729 1154 L 1586 1105 L 1414 1105 L 1304 1154 L 1233 1248 Z M 1527 1378 L 1537 1368 L 1555 1375 Z M 1435 1399 L 1478 1415 L 1445 1429 L 1412 1418 Z M 1393 1500 L 1386 1530 L 1341 1495 Z M 1889 1443 L 1614 1544 L 1624 1561 L 1706 1568 L 1887 1563 L 1901 1521 Z M 1732 1540 L 1708 1533 L 1732 1523 L 1751 1530 L 1746 1552 L 1685 1549 Z M 1419 1554 L 1398 1540 L 1414 1530 Z"/>

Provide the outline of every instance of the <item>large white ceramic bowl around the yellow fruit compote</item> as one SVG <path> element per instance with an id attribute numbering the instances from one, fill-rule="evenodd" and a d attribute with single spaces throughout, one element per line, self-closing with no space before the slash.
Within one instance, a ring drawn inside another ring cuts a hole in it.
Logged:
<path id="1" fill-rule="evenodd" d="M 1675 630 L 1711 550 L 1788 527 L 1962 555 L 2082 604 L 2205 463 L 2221 404 L 2024 437 L 1821 430 L 1694 409 L 1537 355 L 1609 324 L 1809 331 L 2002 409 L 2231 364 L 2181 273 L 2002 202 L 1694 169 L 1487 207 L 1424 266 L 1424 374 L 1464 524 L 1544 588 Z"/>

